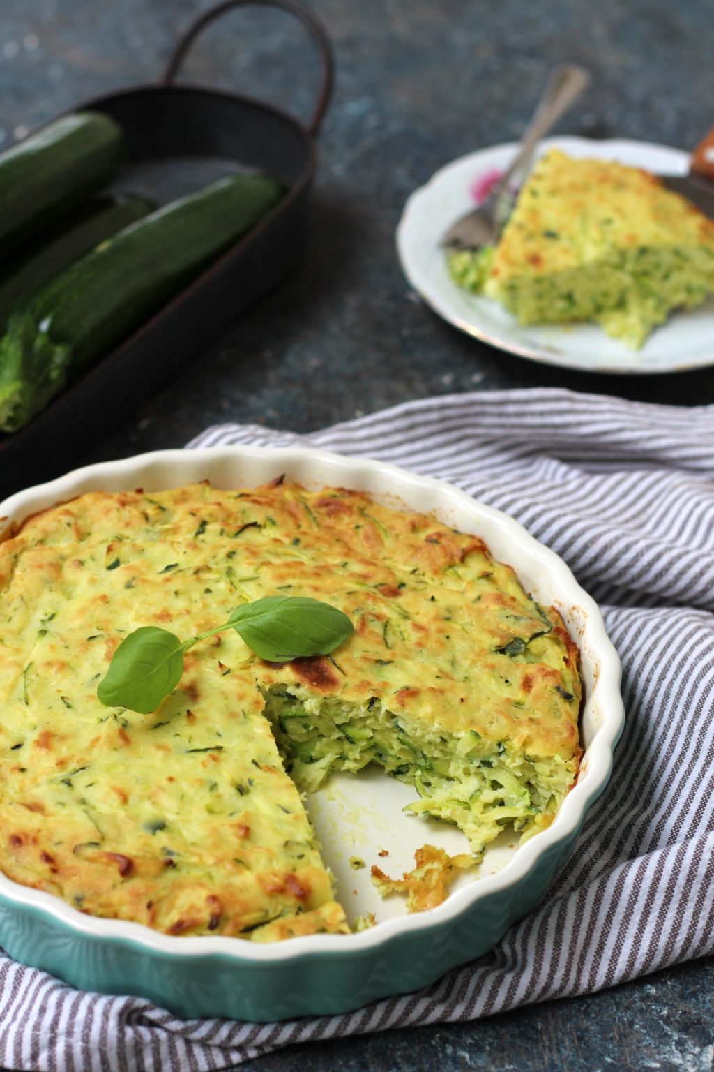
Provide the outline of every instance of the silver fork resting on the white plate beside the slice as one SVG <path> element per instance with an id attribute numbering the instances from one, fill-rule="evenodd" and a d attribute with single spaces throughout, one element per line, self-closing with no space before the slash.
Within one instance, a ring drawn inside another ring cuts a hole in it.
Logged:
<path id="1" fill-rule="evenodd" d="M 475 250 L 498 240 L 516 198 L 519 185 L 517 180 L 525 178 L 530 172 L 537 143 L 572 107 L 589 81 L 588 71 L 576 63 L 562 63 L 553 69 L 510 166 L 486 199 L 442 235 L 439 245 L 455 250 Z"/>

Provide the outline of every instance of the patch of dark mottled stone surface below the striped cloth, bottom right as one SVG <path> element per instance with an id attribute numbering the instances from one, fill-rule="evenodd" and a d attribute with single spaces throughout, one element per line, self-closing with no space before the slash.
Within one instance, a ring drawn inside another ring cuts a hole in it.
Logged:
<path id="1" fill-rule="evenodd" d="M 687 964 L 587 998 L 474 1024 L 308 1043 L 250 1072 L 711 1072 L 714 963 Z"/>

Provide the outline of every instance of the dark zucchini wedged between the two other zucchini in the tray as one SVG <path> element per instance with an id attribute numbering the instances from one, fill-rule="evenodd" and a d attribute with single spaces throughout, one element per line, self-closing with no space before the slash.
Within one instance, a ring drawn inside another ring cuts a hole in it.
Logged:
<path id="1" fill-rule="evenodd" d="M 18 250 L 12 265 L 0 271 L 0 330 L 20 301 L 105 238 L 136 223 L 155 207 L 142 197 L 102 197 L 55 227 L 42 240 Z"/>

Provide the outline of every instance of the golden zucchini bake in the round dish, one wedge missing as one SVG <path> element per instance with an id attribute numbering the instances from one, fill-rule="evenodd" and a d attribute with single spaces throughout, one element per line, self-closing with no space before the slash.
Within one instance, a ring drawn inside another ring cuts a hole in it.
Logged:
<path id="1" fill-rule="evenodd" d="M 547 827 L 577 775 L 558 613 L 477 537 L 360 492 L 92 492 L 0 544 L 0 868 L 93 915 L 346 932 L 302 798 L 331 771 L 380 764 L 476 857 L 504 825 Z M 277 664 L 230 630 L 152 714 L 100 703 L 137 626 L 191 636 L 265 595 L 324 600 L 354 634 Z"/>

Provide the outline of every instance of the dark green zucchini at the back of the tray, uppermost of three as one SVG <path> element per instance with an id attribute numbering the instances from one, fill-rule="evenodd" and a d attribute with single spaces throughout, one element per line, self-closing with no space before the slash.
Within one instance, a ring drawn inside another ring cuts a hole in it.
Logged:
<path id="1" fill-rule="evenodd" d="M 94 111 L 62 116 L 0 154 L 2 258 L 106 185 L 121 157 L 121 126 Z"/>

